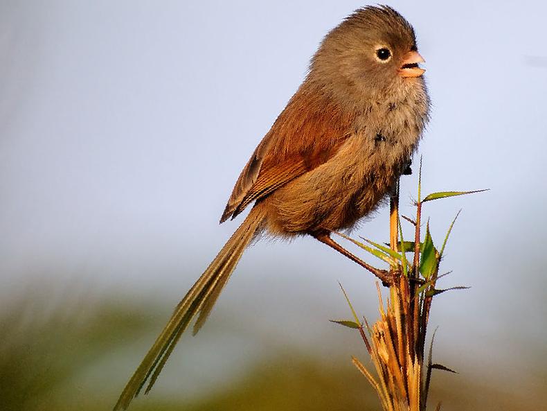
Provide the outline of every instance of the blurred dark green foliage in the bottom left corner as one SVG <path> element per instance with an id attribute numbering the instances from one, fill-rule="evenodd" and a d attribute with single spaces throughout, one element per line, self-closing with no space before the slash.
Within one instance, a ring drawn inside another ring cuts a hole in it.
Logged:
<path id="1" fill-rule="evenodd" d="M 120 344 L 120 335 L 141 333 L 147 324 L 142 317 L 111 304 L 100 304 L 91 312 L 89 305 L 90 301 L 65 301 L 53 306 L 33 295 L 3 310 L 1 410 L 63 410 L 63 392 L 72 392 L 72 397 L 84 394 L 75 385 L 82 370 Z"/>

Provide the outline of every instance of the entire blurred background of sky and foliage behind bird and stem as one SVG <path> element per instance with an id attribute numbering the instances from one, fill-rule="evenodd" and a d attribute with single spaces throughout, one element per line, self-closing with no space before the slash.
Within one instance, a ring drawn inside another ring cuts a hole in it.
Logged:
<path id="1" fill-rule="evenodd" d="M 359 1 L 0 1 L 0 408 L 108 410 L 237 227 L 233 183 Z M 547 401 L 547 46 L 542 1 L 392 1 L 427 60 L 433 240 L 458 209 L 433 303 L 431 406 Z M 416 164 L 413 168 L 418 169 Z M 417 173 L 401 207 L 413 213 Z M 242 220 L 242 219 L 239 219 Z M 408 230 L 410 227 L 406 227 Z M 353 235 L 387 240 L 382 209 Z M 370 260 L 370 259 L 369 259 Z M 359 336 L 373 277 L 310 238 L 244 255 L 134 410 L 378 410 Z M 430 335 L 431 336 L 431 335 Z"/>

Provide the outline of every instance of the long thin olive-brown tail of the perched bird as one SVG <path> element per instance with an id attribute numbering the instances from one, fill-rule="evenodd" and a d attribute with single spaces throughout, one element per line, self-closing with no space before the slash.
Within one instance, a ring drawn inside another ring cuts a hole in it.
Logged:
<path id="1" fill-rule="evenodd" d="M 201 329 L 237 261 L 255 234 L 260 231 L 263 220 L 264 212 L 260 204 L 257 204 L 174 309 L 169 322 L 125 386 L 114 410 L 125 410 L 146 384 L 145 394 L 150 391 L 181 334 L 198 313 L 193 334 Z"/>

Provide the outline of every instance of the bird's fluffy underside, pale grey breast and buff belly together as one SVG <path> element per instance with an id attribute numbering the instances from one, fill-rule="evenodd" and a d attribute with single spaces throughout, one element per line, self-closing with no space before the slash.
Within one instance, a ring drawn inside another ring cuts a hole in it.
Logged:
<path id="1" fill-rule="evenodd" d="M 427 120 L 427 103 L 419 100 L 409 94 L 362 110 L 332 157 L 271 195 L 270 231 L 346 229 L 373 211 L 418 146 Z"/>

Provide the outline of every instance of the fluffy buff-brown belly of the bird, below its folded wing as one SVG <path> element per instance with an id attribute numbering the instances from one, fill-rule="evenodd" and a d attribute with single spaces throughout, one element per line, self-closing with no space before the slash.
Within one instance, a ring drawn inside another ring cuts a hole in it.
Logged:
<path id="1" fill-rule="evenodd" d="M 398 155 L 382 151 L 349 144 L 325 164 L 276 190 L 267 199 L 267 229 L 292 236 L 355 225 L 391 192 L 410 157 L 409 150 Z"/>

